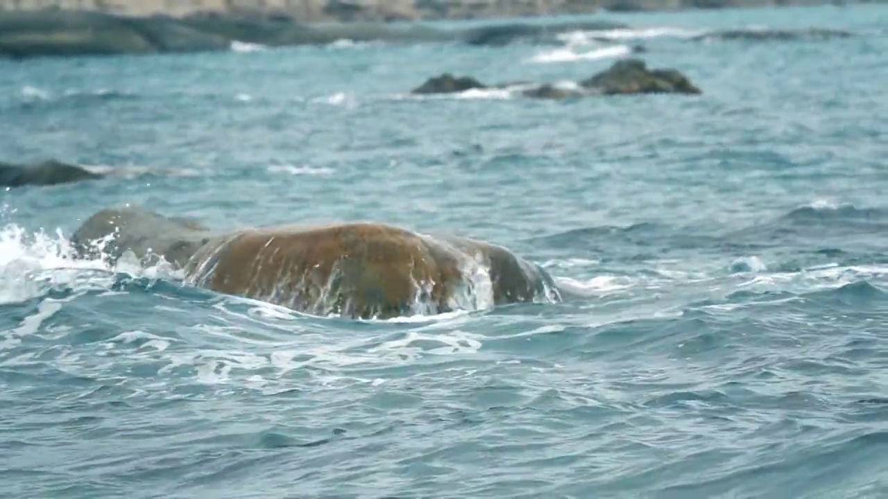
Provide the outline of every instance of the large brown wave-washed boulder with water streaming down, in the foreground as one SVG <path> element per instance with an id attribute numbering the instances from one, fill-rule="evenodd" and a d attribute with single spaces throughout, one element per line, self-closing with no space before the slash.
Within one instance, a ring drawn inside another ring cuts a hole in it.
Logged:
<path id="1" fill-rule="evenodd" d="M 190 285 L 317 315 L 385 319 L 472 308 L 477 301 L 560 300 L 543 268 L 502 246 L 384 224 L 211 234 L 193 220 L 127 207 L 99 211 L 72 242 L 75 257 L 107 255 L 113 263 L 129 250 L 151 265 L 163 256 Z M 489 291 L 474 288 L 478 278 L 489 280 Z"/>

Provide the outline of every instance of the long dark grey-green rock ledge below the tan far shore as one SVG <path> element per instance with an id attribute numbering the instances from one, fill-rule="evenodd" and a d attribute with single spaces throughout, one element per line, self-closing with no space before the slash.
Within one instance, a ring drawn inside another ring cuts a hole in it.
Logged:
<path id="1" fill-rule="evenodd" d="M 503 45 L 554 43 L 559 33 L 625 28 L 607 21 L 515 22 L 480 28 L 443 29 L 395 23 L 304 24 L 281 16 L 199 14 L 127 17 L 101 12 L 0 12 L 0 57 L 151 54 L 227 51 L 232 44 L 269 47 L 330 44 L 337 40 L 415 44 L 452 42 Z"/>

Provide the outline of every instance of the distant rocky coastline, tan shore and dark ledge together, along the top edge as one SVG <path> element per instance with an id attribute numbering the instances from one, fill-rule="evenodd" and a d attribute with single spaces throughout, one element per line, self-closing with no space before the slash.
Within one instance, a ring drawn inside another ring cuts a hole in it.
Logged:
<path id="1" fill-rule="evenodd" d="M 268 4 L 262 10 L 239 8 L 229 12 L 167 12 L 159 7 L 156 12 L 131 15 L 89 9 L 36 10 L 28 9 L 28 4 L 22 3 L 17 5 L 24 5 L 25 8 L 9 10 L 11 1 L 0 0 L 0 7 L 7 7 L 7 10 L 0 10 L 0 59 L 227 51 L 235 44 L 279 47 L 330 44 L 346 39 L 353 42 L 495 46 L 519 41 L 547 43 L 553 41 L 555 36 L 570 31 L 629 28 L 624 23 L 608 20 L 546 20 L 554 16 L 588 16 L 602 12 L 602 9 L 609 9 L 610 12 L 662 12 L 702 7 L 835 3 L 824 0 L 516 0 L 513 3 L 371 0 L 372 4 L 366 5 L 372 7 L 349 10 L 347 5 L 358 4 L 356 0 L 352 0 L 351 4 L 345 0 L 308 0 L 300 5 L 313 5 L 308 11 L 316 15 L 283 12 Z M 333 4 L 337 8 L 332 8 Z M 144 7 L 144 4 L 140 5 Z M 412 9 L 407 9 L 405 5 Z M 425 7 L 419 8 L 423 5 Z M 428 5 L 443 5 L 445 8 L 430 10 Z M 460 9 L 451 8 L 453 5 L 460 6 Z M 473 7 L 467 11 L 468 6 Z M 393 12 L 400 13 L 395 15 Z M 479 20 L 480 25 L 474 28 L 430 25 L 432 21 L 468 19 Z"/>

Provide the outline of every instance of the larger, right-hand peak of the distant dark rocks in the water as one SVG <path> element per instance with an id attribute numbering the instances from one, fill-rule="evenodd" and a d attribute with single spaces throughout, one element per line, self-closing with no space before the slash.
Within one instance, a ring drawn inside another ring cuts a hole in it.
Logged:
<path id="1" fill-rule="evenodd" d="M 606 71 L 580 82 L 580 85 L 606 95 L 630 93 L 699 94 L 685 75 L 675 69 L 649 70 L 643 60 L 622 59 Z"/>

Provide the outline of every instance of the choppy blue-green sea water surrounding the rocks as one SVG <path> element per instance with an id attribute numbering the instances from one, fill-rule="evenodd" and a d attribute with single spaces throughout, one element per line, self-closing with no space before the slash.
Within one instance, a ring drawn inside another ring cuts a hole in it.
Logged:
<path id="1" fill-rule="evenodd" d="M 888 8 L 610 17 L 703 94 L 405 96 L 595 44 L 0 61 L 0 160 L 112 173 L 2 193 L 3 495 L 888 495 Z M 858 36 L 682 37 L 750 25 Z M 126 202 L 469 235 L 568 297 L 346 321 L 58 256 Z"/>

